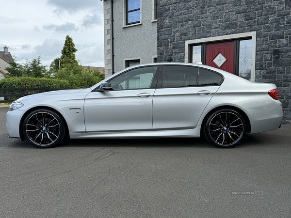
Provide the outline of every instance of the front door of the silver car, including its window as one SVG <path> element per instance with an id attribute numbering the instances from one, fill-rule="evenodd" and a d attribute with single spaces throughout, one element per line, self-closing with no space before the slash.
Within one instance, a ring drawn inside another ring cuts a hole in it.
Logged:
<path id="1" fill-rule="evenodd" d="M 131 69 L 107 81 L 113 90 L 89 93 L 84 102 L 86 132 L 152 131 L 157 69 Z"/>

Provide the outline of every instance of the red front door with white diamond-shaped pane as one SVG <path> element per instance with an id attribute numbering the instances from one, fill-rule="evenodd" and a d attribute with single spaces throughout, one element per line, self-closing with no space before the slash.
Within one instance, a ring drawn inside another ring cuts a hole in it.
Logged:
<path id="1" fill-rule="evenodd" d="M 206 45 L 206 65 L 233 73 L 234 42 Z"/>

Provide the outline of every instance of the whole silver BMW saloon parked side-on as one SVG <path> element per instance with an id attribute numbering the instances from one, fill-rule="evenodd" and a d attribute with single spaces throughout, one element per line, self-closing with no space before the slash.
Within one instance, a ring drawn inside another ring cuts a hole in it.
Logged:
<path id="1" fill-rule="evenodd" d="M 8 136 L 38 148 L 70 139 L 200 137 L 221 148 L 280 127 L 275 84 L 193 63 L 126 68 L 91 88 L 28 95 L 10 105 Z"/>

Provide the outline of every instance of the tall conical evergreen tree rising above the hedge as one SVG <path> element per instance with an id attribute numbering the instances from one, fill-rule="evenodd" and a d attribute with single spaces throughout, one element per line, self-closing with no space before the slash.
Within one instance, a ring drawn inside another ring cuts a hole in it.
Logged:
<path id="1" fill-rule="evenodd" d="M 76 51 L 78 50 L 75 48 L 73 39 L 67 35 L 65 37 L 65 44 L 62 49 L 62 56 L 60 58 L 62 67 L 65 67 L 67 65 L 70 65 L 70 66 L 78 65 L 78 62 L 75 57 Z"/>

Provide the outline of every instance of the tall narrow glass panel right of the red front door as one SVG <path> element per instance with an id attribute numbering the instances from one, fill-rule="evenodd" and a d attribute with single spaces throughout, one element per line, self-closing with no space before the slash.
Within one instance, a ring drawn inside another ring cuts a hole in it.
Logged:
<path id="1" fill-rule="evenodd" d="M 252 40 L 240 41 L 239 76 L 245 79 L 251 78 Z"/>

